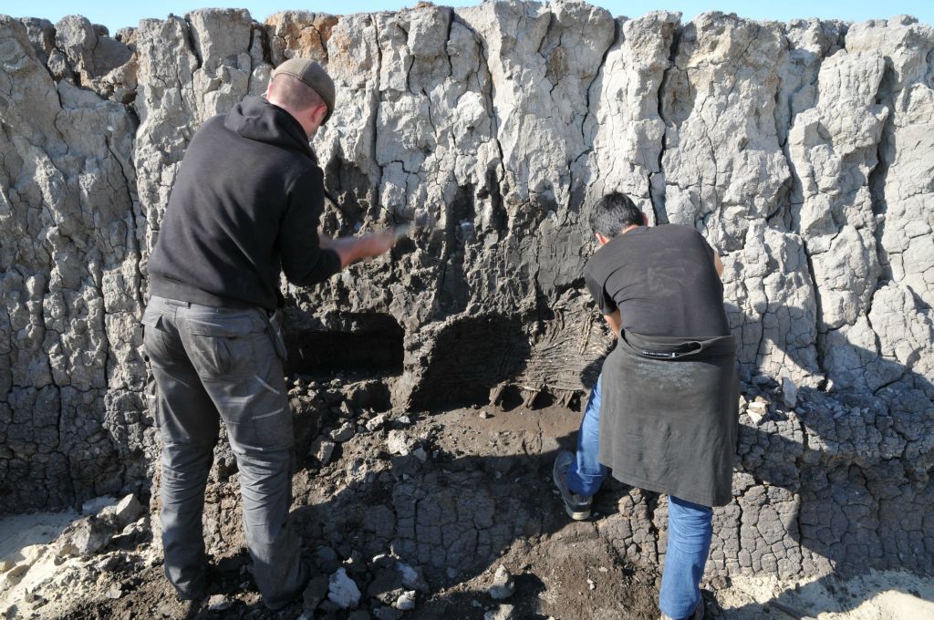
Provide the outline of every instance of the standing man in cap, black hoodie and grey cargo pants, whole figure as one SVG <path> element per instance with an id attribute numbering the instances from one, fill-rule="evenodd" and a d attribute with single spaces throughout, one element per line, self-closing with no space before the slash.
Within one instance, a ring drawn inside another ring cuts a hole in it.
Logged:
<path id="1" fill-rule="evenodd" d="M 201 519 L 219 418 L 237 459 L 265 604 L 285 605 L 309 577 L 289 520 L 293 436 L 279 274 L 311 286 L 393 243 L 391 233 L 318 233 L 323 174 L 308 140 L 333 107 L 331 77 L 318 63 L 291 59 L 264 99 L 248 97 L 205 122 L 149 259 L 149 405 L 163 440 L 165 574 L 180 599 L 205 594 Z"/>

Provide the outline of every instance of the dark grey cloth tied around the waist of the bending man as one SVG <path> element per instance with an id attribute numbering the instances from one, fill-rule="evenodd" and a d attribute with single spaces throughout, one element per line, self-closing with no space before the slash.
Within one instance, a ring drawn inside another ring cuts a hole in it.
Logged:
<path id="1" fill-rule="evenodd" d="M 735 336 L 624 332 L 603 362 L 600 462 L 613 476 L 704 506 L 732 499 L 739 419 Z"/>

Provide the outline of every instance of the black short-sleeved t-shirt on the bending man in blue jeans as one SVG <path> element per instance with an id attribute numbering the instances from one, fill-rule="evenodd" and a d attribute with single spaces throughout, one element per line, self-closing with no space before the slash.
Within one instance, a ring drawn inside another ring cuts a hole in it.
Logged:
<path id="1" fill-rule="evenodd" d="M 651 336 L 727 336 L 714 249 L 690 226 L 640 226 L 587 261 L 587 289 L 622 329 Z"/>

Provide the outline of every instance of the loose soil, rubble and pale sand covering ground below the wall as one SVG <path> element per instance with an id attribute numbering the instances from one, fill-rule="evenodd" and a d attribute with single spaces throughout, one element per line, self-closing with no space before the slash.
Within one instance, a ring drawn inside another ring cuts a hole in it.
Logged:
<path id="1" fill-rule="evenodd" d="M 0 617 L 658 618 L 658 565 L 639 558 L 664 549 L 663 499 L 610 480 L 594 518 L 574 522 L 552 484 L 579 411 L 507 396 L 496 406 L 414 413 L 391 409 L 387 386 L 372 378 L 298 377 L 292 386 L 292 513 L 313 568 L 302 597 L 276 612 L 262 604 L 236 462 L 221 441 L 206 493 L 204 600 L 177 601 L 163 577 L 157 490 L 149 511 L 130 495 L 31 528 L 28 515 L 4 521 Z M 774 424 L 778 392 L 748 384 L 743 392 L 744 424 Z M 654 528 L 627 525 L 644 523 Z M 711 572 L 702 584 L 708 620 L 934 617 L 934 585 L 910 573 L 847 581 Z"/>

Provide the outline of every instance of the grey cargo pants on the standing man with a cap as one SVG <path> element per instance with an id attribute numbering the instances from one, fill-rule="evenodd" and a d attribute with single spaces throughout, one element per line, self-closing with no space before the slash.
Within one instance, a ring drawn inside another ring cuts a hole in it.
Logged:
<path id="1" fill-rule="evenodd" d="M 163 441 L 165 575 L 182 597 L 204 593 L 202 512 L 221 417 L 240 472 L 253 577 L 275 608 L 307 575 L 289 522 L 294 438 L 276 353 L 284 347 L 262 313 L 153 296 L 143 324 Z"/>

